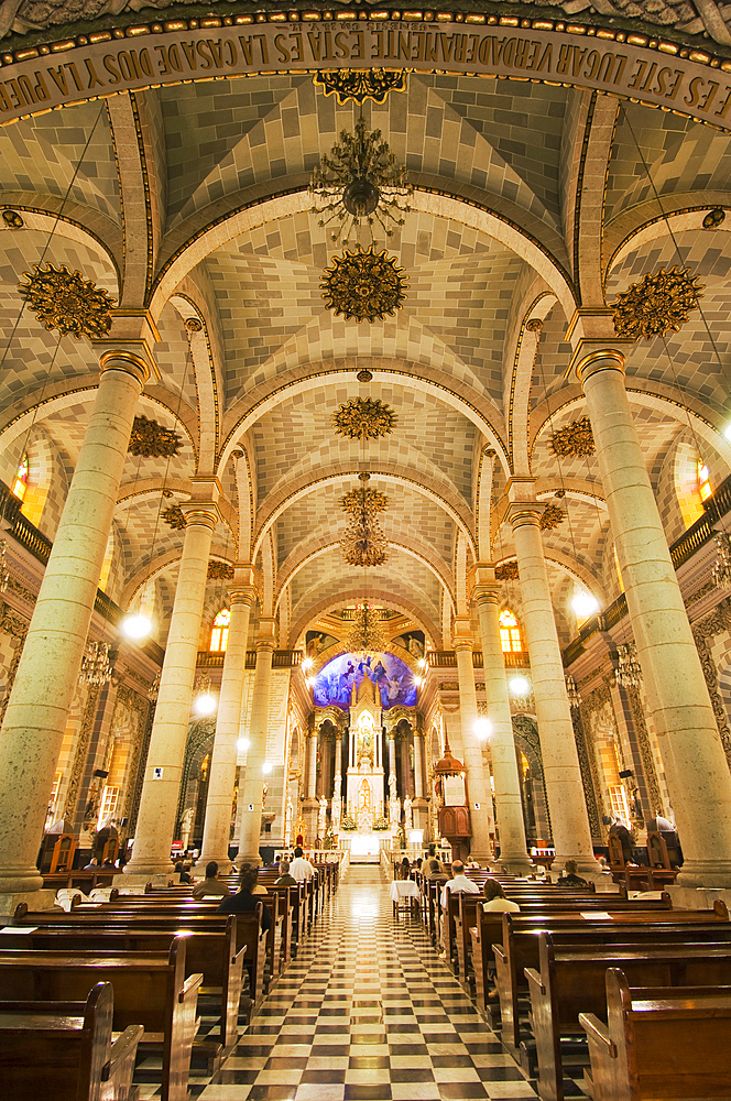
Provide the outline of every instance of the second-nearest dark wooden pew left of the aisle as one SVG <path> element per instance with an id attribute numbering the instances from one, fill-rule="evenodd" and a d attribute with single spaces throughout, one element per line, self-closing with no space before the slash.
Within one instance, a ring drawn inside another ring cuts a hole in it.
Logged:
<path id="1" fill-rule="evenodd" d="M 185 978 L 185 939 L 170 952 L 0 951 L 0 1000 L 79 1001 L 97 982 L 114 989 L 113 1029 L 142 1025 L 142 1046 L 162 1046 L 164 1101 L 185 1101 L 201 974 Z"/>

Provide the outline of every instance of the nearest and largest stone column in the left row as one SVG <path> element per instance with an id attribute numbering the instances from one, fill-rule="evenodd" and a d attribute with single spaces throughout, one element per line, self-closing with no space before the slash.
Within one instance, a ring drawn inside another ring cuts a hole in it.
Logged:
<path id="1" fill-rule="evenodd" d="M 156 339 L 108 347 L 99 389 L 35 602 L 0 732 L 0 913 L 43 880 L 35 865 L 76 688 L 140 391 Z M 121 338 L 120 338 L 121 339 Z M 32 904 L 32 908 L 33 908 Z"/>

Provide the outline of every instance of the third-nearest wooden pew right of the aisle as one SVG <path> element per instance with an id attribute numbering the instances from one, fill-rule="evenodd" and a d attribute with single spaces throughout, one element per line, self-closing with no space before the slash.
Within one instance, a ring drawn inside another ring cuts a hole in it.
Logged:
<path id="1" fill-rule="evenodd" d="M 710 911 L 670 911 L 636 908 L 637 903 L 618 912 L 607 911 L 609 919 L 593 917 L 590 911 L 581 913 L 557 911 L 544 912 L 543 915 L 503 914 L 502 945 L 493 946 L 495 962 L 495 985 L 500 996 L 500 1017 L 502 1023 L 502 1042 L 515 1059 L 520 1059 L 521 1039 L 521 999 L 527 1002 L 526 967 L 537 967 L 539 959 L 538 938 L 542 933 L 550 933 L 555 938 L 566 934 L 564 942 L 571 938 L 592 938 L 597 944 L 609 939 L 618 941 L 615 933 L 642 936 L 643 929 L 663 928 L 664 935 L 670 935 L 670 927 L 676 927 L 676 935 L 690 936 L 689 926 L 694 933 L 698 927 L 716 923 L 729 925 L 729 912 L 723 903 L 714 903 Z M 635 908 L 633 908 L 635 907 Z"/>

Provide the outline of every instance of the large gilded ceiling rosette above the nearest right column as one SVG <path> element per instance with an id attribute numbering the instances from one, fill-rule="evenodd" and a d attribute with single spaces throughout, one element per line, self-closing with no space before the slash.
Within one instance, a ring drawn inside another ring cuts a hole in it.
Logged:
<path id="1" fill-rule="evenodd" d="M 618 294 L 613 306 L 618 337 L 650 340 L 666 333 L 677 333 L 702 297 L 698 279 L 698 275 L 690 275 L 688 268 L 668 268 L 667 271 L 661 268 L 654 275 L 648 272 L 639 283 Z"/>

